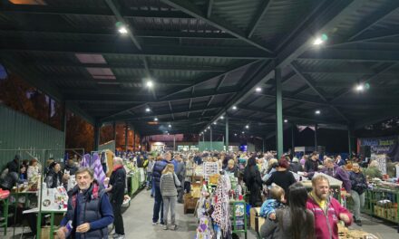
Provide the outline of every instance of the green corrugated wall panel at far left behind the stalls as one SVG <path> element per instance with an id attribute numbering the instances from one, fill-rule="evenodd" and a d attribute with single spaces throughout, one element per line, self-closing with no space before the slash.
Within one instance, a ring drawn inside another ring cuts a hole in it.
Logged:
<path id="1" fill-rule="evenodd" d="M 0 168 L 12 160 L 15 154 L 23 159 L 31 155 L 42 158 L 63 158 L 65 137 L 61 130 L 54 129 L 36 119 L 26 116 L 4 105 L 0 105 Z M 11 149 L 11 150 L 5 150 Z M 29 149 L 29 150 L 20 150 Z M 44 156 L 44 150 L 47 151 Z"/>

